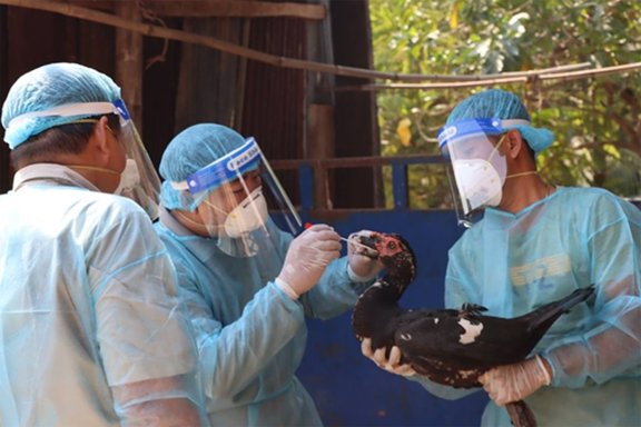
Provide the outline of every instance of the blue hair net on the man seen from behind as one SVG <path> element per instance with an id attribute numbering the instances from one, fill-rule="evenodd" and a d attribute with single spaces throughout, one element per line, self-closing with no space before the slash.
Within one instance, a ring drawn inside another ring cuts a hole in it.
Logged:
<path id="1" fill-rule="evenodd" d="M 14 149 L 29 138 L 57 126 L 67 125 L 91 115 L 32 117 L 20 123 L 10 121 L 28 112 L 78 102 L 114 102 L 120 99 L 120 88 L 108 76 L 79 63 L 58 62 L 39 67 L 22 75 L 2 106 L 4 141 Z"/>

